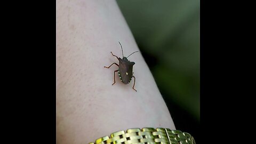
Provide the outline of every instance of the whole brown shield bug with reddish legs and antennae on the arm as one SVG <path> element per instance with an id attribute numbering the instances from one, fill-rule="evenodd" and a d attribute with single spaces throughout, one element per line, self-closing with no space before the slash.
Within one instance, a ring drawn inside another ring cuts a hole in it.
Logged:
<path id="1" fill-rule="evenodd" d="M 120 42 L 119 42 L 119 44 L 121 45 Z M 114 57 L 116 57 L 118 59 L 119 65 L 117 65 L 117 63 L 114 62 L 109 67 L 105 67 L 105 68 L 110 68 L 114 64 L 116 66 L 118 66 L 118 69 L 114 71 L 114 83 L 112 85 L 114 85 L 116 83 L 115 73 L 118 72 L 118 76 L 124 84 L 129 84 L 132 80 L 132 77 L 134 78 L 134 84 L 133 84 L 132 89 L 135 90 L 134 89 L 135 76 L 133 76 L 133 72 L 132 72 L 132 67 L 135 64 L 135 62 L 129 61 L 127 58 L 130 57 L 130 55 L 132 55 L 133 53 L 139 52 L 139 51 L 135 51 L 135 52 L 131 53 L 128 57 L 124 57 L 122 45 L 121 45 L 121 49 L 122 49 L 123 59 L 118 58 L 116 55 L 114 55 L 112 52 L 110 52 Z M 137 90 L 135 90 L 135 91 L 137 92 Z"/>

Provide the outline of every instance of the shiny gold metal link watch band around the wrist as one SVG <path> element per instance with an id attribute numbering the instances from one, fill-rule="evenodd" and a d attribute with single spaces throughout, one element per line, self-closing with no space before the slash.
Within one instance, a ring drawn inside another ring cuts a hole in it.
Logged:
<path id="1" fill-rule="evenodd" d="M 170 130 L 163 128 L 143 128 L 143 129 L 129 129 L 125 131 L 119 131 L 111 133 L 110 137 L 102 137 L 89 144 L 183 144 L 190 143 L 195 144 L 195 140 L 189 133 L 181 132 L 178 130 Z"/>

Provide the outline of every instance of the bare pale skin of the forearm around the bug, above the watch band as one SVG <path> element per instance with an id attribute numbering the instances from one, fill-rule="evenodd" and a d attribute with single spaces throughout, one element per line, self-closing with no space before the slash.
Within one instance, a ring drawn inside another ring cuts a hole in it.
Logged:
<path id="1" fill-rule="evenodd" d="M 140 52 L 134 78 L 114 71 L 139 48 L 115 1 L 57 0 L 57 143 L 89 143 L 110 133 L 143 127 L 175 130 L 171 115 Z"/>

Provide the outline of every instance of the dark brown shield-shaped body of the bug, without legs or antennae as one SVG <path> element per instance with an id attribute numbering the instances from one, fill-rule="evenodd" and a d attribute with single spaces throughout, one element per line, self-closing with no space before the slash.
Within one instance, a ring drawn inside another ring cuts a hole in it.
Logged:
<path id="1" fill-rule="evenodd" d="M 119 68 L 118 68 L 118 76 L 124 84 L 128 84 L 132 80 L 132 68 L 135 62 L 131 62 L 127 60 L 127 58 L 118 58 L 119 60 Z"/>

